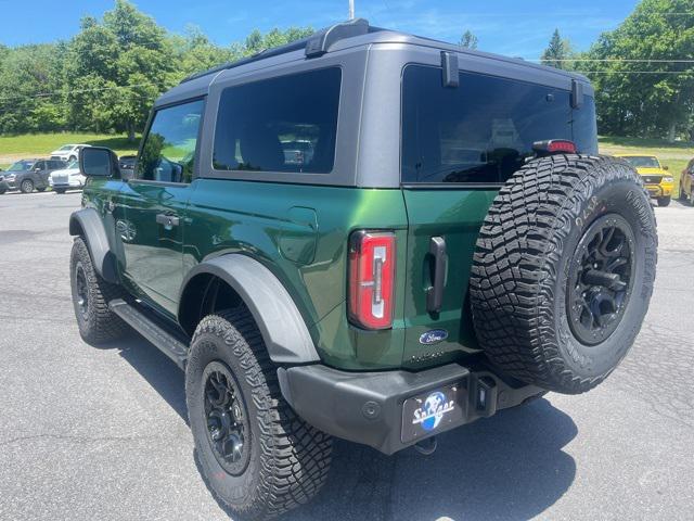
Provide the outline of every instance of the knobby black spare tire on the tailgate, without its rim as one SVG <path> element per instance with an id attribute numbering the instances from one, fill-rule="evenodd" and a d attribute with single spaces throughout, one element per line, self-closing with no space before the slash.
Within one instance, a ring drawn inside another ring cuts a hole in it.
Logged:
<path id="1" fill-rule="evenodd" d="M 615 214 L 633 233 L 627 241 L 632 290 L 616 329 L 587 345 L 569 325 L 569 264 L 587 230 Z M 470 283 L 478 340 L 491 361 L 518 380 L 586 392 L 617 367 L 639 333 L 656 260 L 653 208 L 626 162 L 581 155 L 532 161 L 500 190 L 477 240 Z"/>

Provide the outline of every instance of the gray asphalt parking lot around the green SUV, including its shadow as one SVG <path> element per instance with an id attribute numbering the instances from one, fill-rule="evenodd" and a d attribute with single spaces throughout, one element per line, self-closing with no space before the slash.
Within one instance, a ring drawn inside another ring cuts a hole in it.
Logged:
<path id="1" fill-rule="evenodd" d="M 0 195 L 0 519 L 229 519 L 195 466 L 182 372 L 134 334 L 79 338 L 79 201 Z M 694 208 L 656 215 L 647 321 L 603 385 L 447 433 L 429 457 L 337 442 L 326 488 L 285 519 L 692 519 Z"/>

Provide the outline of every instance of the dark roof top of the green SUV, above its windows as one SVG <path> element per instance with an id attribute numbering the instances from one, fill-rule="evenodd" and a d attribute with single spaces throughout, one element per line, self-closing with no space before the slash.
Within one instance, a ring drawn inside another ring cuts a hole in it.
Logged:
<path id="1" fill-rule="evenodd" d="M 374 43 L 409 43 L 413 46 L 434 48 L 441 51 L 458 52 L 475 58 L 494 60 L 498 62 L 506 62 L 514 65 L 522 64 L 526 67 L 537 68 L 545 73 L 552 73 L 568 78 L 575 78 L 589 84 L 588 78 L 577 73 L 526 62 L 525 60 L 519 58 L 502 56 L 500 54 L 462 48 L 453 43 L 447 43 L 445 41 L 439 41 L 432 38 L 414 36 L 397 30 L 384 29 L 382 27 L 369 25 L 369 22 L 363 18 L 357 18 L 354 21 L 344 22 L 331 27 L 326 27 L 306 38 L 301 38 L 291 43 L 266 49 L 252 56 L 244 58 L 235 62 L 224 63 L 208 71 L 203 71 L 201 73 L 188 76 L 187 78 L 181 80 L 178 87 L 175 87 L 169 92 L 159 98 L 156 104 L 165 104 L 169 101 L 169 99 L 174 97 L 179 98 L 179 96 L 172 94 L 179 94 L 181 93 L 180 91 L 185 91 L 185 93 L 190 94 L 191 97 L 205 94 L 207 89 L 209 88 L 209 85 L 222 71 L 241 67 L 243 65 L 259 62 L 261 60 L 267 60 L 273 56 L 279 58 L 286 55 L 287 61 L 295 60 L 296 55 L 292 53 L 295 53 L 297 51 L 304 51 L 306 59 L 312 59 L 323 55 L 330 51 Z"/>

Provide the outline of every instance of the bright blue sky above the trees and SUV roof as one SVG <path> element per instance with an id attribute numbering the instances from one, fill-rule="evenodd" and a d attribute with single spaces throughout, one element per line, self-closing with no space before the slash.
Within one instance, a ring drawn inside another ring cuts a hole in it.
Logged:
<path id="1" fill-rule="evenodd" d="M 357 16 L 373 25 L 457 42 L 465 29 L 479 49 L 537 59 L 554 28 L 587 49 L 614 29 L 637 0 L 355 0 Z M 347 0 L 240 1 L 139 0 L 138 8 L 174 33 L 200 26 L 214 41 L 228 45 L 252 29 L 311 25 L 320 28 L 347 17 Z M 68 39 L 86 14 L 101 16 L 112 0 L 0 0 L 0 42 L 7 46 Z M 41 13 L 37 15 L 37 13 Z"/>

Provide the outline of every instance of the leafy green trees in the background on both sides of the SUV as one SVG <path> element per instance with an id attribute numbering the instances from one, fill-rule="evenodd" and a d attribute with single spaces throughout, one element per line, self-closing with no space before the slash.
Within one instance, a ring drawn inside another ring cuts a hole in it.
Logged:
<path id="1" fill-rule="evenodd" d="M 310 27 L 257 29 L 222 47 L 200 28 L 168 33 L 128 0 L 82 18 L 69 41 L 0 45 L 0 134 L 141 131 L 153 100 L 185 76 L 303 38 Z M 462 47 L 478 38 L 466 30 Z M 694 139 L 692 0 L 642 0 L 615 30 L 576 52 L 558 30 L 542 63 L 586 74 L 601 134 Z"/>

